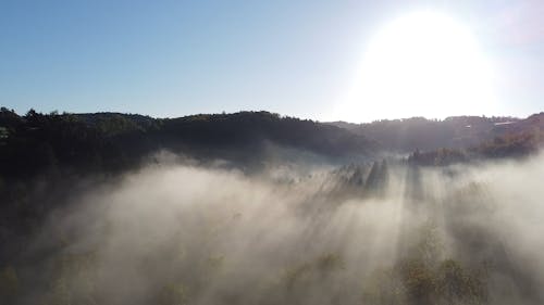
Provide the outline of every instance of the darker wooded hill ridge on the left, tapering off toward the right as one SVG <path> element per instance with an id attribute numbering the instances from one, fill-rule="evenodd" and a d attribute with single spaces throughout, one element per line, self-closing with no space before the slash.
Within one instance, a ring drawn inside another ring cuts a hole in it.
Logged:
<path id="1" fill-rule="evenodd" d="M 152 118 L 121 113 L 25 115 L 0 110 L 0 175 L 26 177 L 71 168 L 131 168 L 159 150 L 195 158 L 251 163 L 271 147 L 323 157 L 368 156 L 374 141 L 349 130 L 269 112 Z"/>

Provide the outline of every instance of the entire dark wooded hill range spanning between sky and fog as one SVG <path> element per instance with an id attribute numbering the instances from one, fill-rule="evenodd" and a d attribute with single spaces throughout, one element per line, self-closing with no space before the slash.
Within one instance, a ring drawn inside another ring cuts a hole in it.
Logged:
<path id="1" fill-rule="evenodd" d="M 319 123 L 269 112 L 153 118 L 122 113 L 18 115 L 0 109 L 0 182 L 37 173 L 116 173 L 160 150 L 199 161 L 259 164 L 281 150 L 330 161 L 412 153 L 421 164 L 527 155 L 543 142 L 544 113 L 528 118 L 421 117 L 370 124 Z M 286 152 L 286 153 L 285 153 Z M 415 153 L 415 154 L 413 154 Z M 2 178 L 3 177 L 3 178 Z"/>

